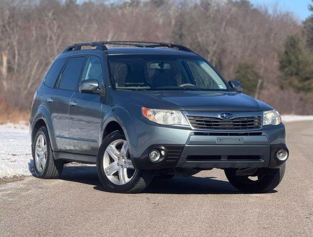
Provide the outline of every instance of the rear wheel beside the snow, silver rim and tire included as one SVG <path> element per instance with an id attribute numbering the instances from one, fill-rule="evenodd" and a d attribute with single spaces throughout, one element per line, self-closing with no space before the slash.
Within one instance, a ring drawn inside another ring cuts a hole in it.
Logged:
<path id="1" fill-rule="evenodd" d="M 43 146 L 41 141 L 43 141 Z M 35 176 L 38 178 L 57 179 L 62 173 L 63 161 L 53 159 L 49 135 L 45 127 L 40 127 L 35 136 L 33 160 Z"/>

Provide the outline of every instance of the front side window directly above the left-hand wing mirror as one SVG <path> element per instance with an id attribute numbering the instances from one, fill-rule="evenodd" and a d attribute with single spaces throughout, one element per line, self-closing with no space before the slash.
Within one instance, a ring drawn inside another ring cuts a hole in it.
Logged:
<path id="1" fill-rule="evenodd" d="M 81 80 L 97 79 L 99 87 L 102 85 L 103 73 L 100 58 L 89 56 L 82 74 Z"/>

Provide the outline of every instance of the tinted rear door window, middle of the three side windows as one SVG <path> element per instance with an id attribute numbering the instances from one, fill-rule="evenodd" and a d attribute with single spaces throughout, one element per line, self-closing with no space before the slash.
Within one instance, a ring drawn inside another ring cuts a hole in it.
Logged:
<path id="1" fill-rule="evenodd" d="M 60 89 L 76 90 L 85 57 L 70 58 L 61 77 Z"/>

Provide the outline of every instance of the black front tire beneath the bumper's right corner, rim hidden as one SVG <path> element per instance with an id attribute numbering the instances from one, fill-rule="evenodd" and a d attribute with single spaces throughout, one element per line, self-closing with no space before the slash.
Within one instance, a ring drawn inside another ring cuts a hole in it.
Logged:
<path id="1" fill-rule="evenodd" d="M 285 173 L 286 163 L 275 169 L 273 175 L 261 175 L 257 180 L 236 175 L 236 169 L 225 169 L 228 181 L 238 190 L 248 193 L 267 193 L 277 187 Z"/>

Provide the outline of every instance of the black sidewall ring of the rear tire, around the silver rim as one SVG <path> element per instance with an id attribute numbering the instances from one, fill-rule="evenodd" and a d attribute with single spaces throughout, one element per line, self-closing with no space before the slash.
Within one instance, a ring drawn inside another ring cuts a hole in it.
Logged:
<path id="1" fill-rule="evenodd" d="M 40 134 L 43 135 L 45 143 L 46 143 L 46 146 L 47 146 L 46 161 L 45 161 L 45 166 L 44 166 L 44 169 L 42 170 L 42 172 L 39 172 L 39 170 L 37 169 L 36 160 L 35 160 L 35 157 L 36 157 L 36 143 L 37 143 L 37 139 L 38 139 Z M 34 170 L 35 170 L 36 176 L 38 176 L 38 177 L 44 177 L 45 176 L 45 174 L 47 173 L 47 170 L 48 170 L 48 165 L 47 164 L 49 163 L 50 155 L 51 155 L 50 140 L 49 140 L 47 129 L 45 127 L 40 127 L 38 132 L 37 132 L 37 134 L 36 134 L 36 136 L 35 136 L 34 146 L 33 146 L 33 162 L 34 162 Z"/>

